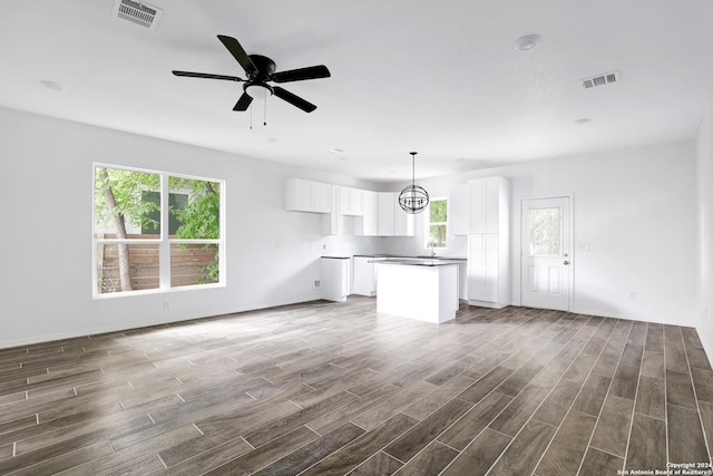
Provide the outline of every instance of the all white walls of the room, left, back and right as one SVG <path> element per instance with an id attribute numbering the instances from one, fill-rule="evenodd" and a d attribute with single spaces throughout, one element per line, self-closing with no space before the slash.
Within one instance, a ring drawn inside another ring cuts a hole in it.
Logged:
<path id="1" fill-rule="evenodd" d="M 574 311 L 697 322 L 710 351 L 711 324 L 696 318 L 696 164 L 705 174 L 699 179 L 707 223 L 701 243 L 709 253 L 703 301 L 713 309 L 713 126 L 706 117 L 697 152 L 686 142 L 418 182 L 431 196 L 448 196 L 455 184 L 501 175 L 511 181 L 515 210 L 524 197 L 573 195 L 575 243 L 592 244 L 590 252 L 574 256 Z M 92 300 L 95 161 L 226 179 L 227 286 Z M 284 179 L 292 176 L 399 190 L 0 108 L 0 348 L 318 299 L 313 282 L 322 254 L 426 252 L 422 215 L 417 215 L 416 239 L 323 236 L 320 215 L 284 212 Z M 516 213 L 511 231 L 517 239 Z M 449 237 L 449 243 L 446 255 L 466 255 L 465 237 Z M 512 252 L 518 304 L 517 240 Z"/>

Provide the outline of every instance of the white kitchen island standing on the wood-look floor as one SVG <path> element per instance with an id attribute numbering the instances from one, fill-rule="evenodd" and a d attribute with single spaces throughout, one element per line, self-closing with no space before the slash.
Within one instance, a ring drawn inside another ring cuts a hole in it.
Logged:
<path id="1" fill-rule="evenodd" d="M 441 323 L 456 319 L 458 265 L 453 260 L 378 259 L 377 312 Z"/>

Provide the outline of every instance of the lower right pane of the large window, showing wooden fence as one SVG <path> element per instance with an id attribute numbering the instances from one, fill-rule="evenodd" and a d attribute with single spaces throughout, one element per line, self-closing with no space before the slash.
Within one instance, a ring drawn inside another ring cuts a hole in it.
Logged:
<path id="1" fill-rule="evenodd" d="M 217 244 L 172 244 L 172 288 L 217 283 L 219 276 Z"/>

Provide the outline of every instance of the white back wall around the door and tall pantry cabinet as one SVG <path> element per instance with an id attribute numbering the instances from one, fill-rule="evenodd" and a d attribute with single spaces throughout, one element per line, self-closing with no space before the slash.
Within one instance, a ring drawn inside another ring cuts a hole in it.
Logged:
<path id="1" fill-rule="evenodd" d="M 574 198 L 575 312 L 693 326 L 696 322 L 696 161 L 692 142 L 632 148 L 417 181 L 431 196 L 469 178 L 500 175 L 511 185 L 512 303 L 519 304 L 520 201 Z M 385 239 L 391 253 L 423 253 L 416 242 Z M 447 255 L 466 255 L 448 237 Z M 577 243 L 590 243 L 577 252 Z M 631 293 L 636 299 L 631 299 Z M 713 309 L 713 308 L 712 308 Z"/>

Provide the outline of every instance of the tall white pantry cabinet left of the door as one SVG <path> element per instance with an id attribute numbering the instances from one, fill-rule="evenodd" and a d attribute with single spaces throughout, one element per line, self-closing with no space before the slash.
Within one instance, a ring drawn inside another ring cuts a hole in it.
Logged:
<path id="1" fill-rule="evenodd" d="M 478 178 L 451 191 L 451 233 L 468 235 L 468 303 L 510 303 L 509 183 Z"/>

